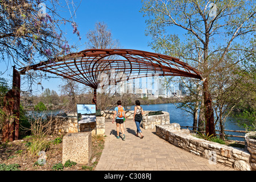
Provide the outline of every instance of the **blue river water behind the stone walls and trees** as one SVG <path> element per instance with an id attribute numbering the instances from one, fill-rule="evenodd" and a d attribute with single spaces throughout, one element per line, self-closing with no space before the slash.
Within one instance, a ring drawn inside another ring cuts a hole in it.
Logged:
<path id="1" fill-rule="evenodd" d="M 170 113 L 170 123 L 179 123 L 180 126 L 193 126 L 193 115 L 184 111 L 182 109 L 176 108 L 174 104 L 152 104 L 152 105 L 141 105 L 143 110 L 152 110 L 152 111 L 167 111 Z M 126 107 L 126 110 L 134 110 L 134 106 Z M 46 111 L 46 114 L 58 114 L 61 113 L 61 110 L 49 110 Z M 216 128 L 217 129 L 217 128 Z M 225 122 L 226 130 L 242 130 L 245 129 L 237 125 L 236 118 L 228 117 Z M 231 135 L 245 135 L 245 133 L 234 133 L 234 132 L 225 132 L 226 134 Z M 243 141 L 244 138 L 229 137 L 228 139 L 240 140 Z"/>

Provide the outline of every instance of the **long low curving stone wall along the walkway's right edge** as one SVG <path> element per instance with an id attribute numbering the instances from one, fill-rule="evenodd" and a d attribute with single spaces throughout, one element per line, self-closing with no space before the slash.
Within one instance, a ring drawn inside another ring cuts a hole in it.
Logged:
<path id="1" fill-rule="evenodd" d="M 248 151 L 193 137 L 188 130 L 180 129 L 178 123 L 156 125 L 156 135 L 192 154 L 209 159 L 210 164 L 221 163 L 242 171 L 253 170 Z"/>

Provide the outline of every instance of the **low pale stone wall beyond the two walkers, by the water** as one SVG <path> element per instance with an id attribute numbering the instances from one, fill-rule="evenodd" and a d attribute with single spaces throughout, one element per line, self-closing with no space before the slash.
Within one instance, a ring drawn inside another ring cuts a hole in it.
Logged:
<path id="1" fill-rule="evenodd" d="M 144 115 L 142 117 L 142 127 L 143 129 L 155 129 L 156 125 L 166 125 L 170 123 L 170 114 L 166 111 L 162 111 L 163 114 L 160 115 L 148 115 L 151 111 L 144 111 Z M 113 119 L 114 111 L 113 110 L 105 110 L 101 111 L 101 114 L 105 118 Z M 125 111 L 126 117 L 133 119 L 134 110 Z"/>

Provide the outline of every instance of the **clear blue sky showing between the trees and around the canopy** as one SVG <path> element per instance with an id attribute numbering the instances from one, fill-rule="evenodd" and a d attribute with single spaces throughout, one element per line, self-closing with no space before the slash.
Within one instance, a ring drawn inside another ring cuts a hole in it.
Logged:
<path id="1" fill-rule="evenodd" d="M 65 5 L 65 1 L 62 1 L 62 3 Z M 69 7 L 72 8 L 71 5 Z M 81 51 L 86 49 L 86 33 L 94 29 L 95 23 L 105 22 L 112 32 L 113 39 L 119 40 L 121 48 L 154 52 L 148 47 L 151 38 L 145 35 L 146 18 L 143 18 L 143 14 L 139 12 L 141 8 L 142 2 L 140 0 L 82 0 L 76 15 L 73 16 L 73 20 L 78 24 L 78 30 L 80 31 L 80 42 L 77 36 L 72 34 L 73 28 L 70 24 L 66 24 L 63 31 L 67 33 L 68 43 L 70 45 L 77 44 L 79 46 L 77 51 Z M 69 18 L 71 15 L 66 9 L 62 16 Z M 0 72 L 4 72 L 6 67 L 5 63 L 0 63 Z M 8 68 L 7 72 L 0 77 L 7 78 L 11 83 L 13 73 L 10 65 Z M 24 76 L 21 76 L 21 79 L 24 80 Z M 55 90 L 58 94 L 60 93 L 60 84 L 61 78 L 42 81 L 44 89 Z M 24 85 L 27 88 L 27 84 Z M 42 86 L 35 84 L 32 93 L 42 93 Z M 23 90 L 23 88 L 21 89 Z"/>

